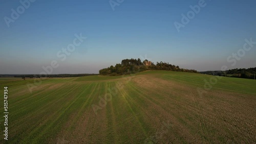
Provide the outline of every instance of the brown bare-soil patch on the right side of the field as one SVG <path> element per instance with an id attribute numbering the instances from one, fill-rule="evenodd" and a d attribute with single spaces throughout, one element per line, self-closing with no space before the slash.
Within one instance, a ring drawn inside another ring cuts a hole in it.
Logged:
<path id="1" fill-rule="evenodd" d="M 196 89 L 159 78 L 142 76 L 132 82 L 164 119 L 172 117 L 176 138 L 189 143 L 256 140 L 256 100 L 252 95 L 211 90 L 200 97 Z M 145 113 L 151 111 L 146 109 Z"/>

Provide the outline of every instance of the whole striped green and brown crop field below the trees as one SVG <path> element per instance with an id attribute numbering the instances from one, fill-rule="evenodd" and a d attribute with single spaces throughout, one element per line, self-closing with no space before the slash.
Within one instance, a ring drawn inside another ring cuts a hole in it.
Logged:
<path id="1" fill-rule="evenodd" d="M 256 80 L 159 70 L 46 78 L 30 92 L 34 80 L 0 79 L 0 143 L 256 142 Z"/>

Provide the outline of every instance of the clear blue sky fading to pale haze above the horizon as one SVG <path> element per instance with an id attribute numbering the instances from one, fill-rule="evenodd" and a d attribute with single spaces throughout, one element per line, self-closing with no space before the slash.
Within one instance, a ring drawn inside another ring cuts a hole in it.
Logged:
<path id="1" fill-rule="evenodd" d="M 256 67 L 254 0 L 33 1 L 0 2 L 0 74 L 97 74 L 126 58 Z"/>

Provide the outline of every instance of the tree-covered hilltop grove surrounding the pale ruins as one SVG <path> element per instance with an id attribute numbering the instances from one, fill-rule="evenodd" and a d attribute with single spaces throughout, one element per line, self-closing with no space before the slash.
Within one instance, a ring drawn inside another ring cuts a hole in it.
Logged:
<path id="1" fill-rule="evenodd" d="M 148 64 L 150 63 L 150 64 Z M 154 64 L 148 60 L 143 62 L 140 59 L 124 59 L 121 63 L 116 64 L 115 66 L 111 65 L 108 68 L 103 68 L 99 70 L 100 75 L 109 75 L 109 76 L 118 76 L 118 75 L 129 75 L 135 74 L 140 71 L 145 70 L 172 70 L 172 71 L 183 71 L 189 73 L 199 73 L 197 70 L 183 69 L 179 66 L 175 66 L 166 62 L 157 62 Z"/>

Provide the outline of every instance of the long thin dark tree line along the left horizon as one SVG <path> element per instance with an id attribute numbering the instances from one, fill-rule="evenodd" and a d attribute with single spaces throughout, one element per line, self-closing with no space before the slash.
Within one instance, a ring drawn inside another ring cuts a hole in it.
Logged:
<path id="1" fill-rule="evenodd" d="M 14 78 L 68 78 L 68 77 L 83 77 L 93 76 L 98 74 L 57 74 L 57 75 L 0 75 L 0 77 L 14 77 Z"/>

